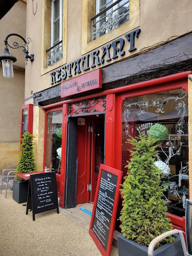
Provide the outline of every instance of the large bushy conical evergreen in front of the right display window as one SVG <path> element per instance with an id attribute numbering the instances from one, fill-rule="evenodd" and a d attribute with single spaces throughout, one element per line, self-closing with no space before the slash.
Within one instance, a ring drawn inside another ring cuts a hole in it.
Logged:
<path id="1" fill-rule="evenodd" d="M 159 178 L 161 171 L 154 165 L 157 157 L 156 142 L 155 139 L 141 135 L 127 140 L 127 143 L 133 145 L 133 150 L 130 150 L 132 158 L 126 166 L 128 175 L 124 177 L 121 189 L 124 195 L 119 218 L 121 232 L 126 238 L 146 247 L 152 239 L 173 229 L 165 213 L 165 189 L 161 187 Z M 174 238 L 169 236 L 158 243 L 157 247 L 173 241 Z"/>

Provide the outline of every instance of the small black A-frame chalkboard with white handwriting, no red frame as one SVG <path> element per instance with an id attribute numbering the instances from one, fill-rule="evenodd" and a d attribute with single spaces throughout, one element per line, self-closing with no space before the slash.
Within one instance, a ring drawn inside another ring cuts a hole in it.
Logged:
<path id="1" fill-rule="evenodd" d="M 26 214 L 29 210 L 32 210 L 33 221 L 35 221 L 35 214 L 53 209 L 57 209 L 57 213 L 59 213 L 55 172 L 31 174 Z"/>

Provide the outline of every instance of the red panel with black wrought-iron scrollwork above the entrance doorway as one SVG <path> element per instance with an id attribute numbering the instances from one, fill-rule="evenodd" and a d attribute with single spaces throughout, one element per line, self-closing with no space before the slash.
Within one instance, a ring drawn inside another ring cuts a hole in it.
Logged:
<path id="1" fill-rule="evenodd" d="M 106 97 L 86 99 L 81 102 L 68 104 L 68 115 L 96 113 L 106 110 Z"/>

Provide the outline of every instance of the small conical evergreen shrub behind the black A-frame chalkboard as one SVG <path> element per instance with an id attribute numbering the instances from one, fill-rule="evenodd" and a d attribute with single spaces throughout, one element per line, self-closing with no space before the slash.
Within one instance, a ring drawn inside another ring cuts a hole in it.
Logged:
<path id="1" fill-rule="evenodd" d="M 36 172 L 35 167 L 35 158 L 33 154 L 34 144 L 33 143 L 33 134 L 29 132 L 22 135 L 22 144 L 20 146 L 20 157 L 17 164 L 17 169 L 15 173 L 24 173 L 24 172 Z M 25 181 L 24 179 L 16 176 L 16 181 Z"/>

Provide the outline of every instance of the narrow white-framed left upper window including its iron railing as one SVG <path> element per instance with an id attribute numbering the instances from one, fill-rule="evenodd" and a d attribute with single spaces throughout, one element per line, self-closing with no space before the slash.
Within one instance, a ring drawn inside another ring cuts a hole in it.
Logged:
<path id="1" fill-rule="evenodd" d="M 62 58 L 63 0 L 51 1 L 51 48 L 47 50 L 47 66 Z"/>

